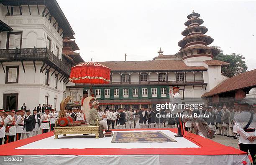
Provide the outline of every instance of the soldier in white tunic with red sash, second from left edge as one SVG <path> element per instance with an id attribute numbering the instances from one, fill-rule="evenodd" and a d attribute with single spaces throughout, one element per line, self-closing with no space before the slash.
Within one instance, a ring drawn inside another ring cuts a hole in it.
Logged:
<path id="1" fill-rule="evenodd" d="M 5 134 L 6 134 L 6 143 L 10 143 L 14 141 L 14 137 L 16 134 L 16 119 L 14 117 L 15 110 L 12 109 L 9 111 L 9 115 L 5 118 Z"/>

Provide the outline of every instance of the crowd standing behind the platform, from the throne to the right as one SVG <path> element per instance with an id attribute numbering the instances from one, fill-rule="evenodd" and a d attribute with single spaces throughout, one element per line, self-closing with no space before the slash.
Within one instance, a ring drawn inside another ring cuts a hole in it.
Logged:
<path id="1" fill-rule="evenodd" d="M 255 107 L 249 107 L 249 111 L 254 113 Z M 97 116 L 106 116 L 103 120 L 108 123 L 108 128 L 118 129 L 133 129 L 133 128 L 176 128 L 174 117 L 156 117 L 157 113 L 161 116 L 171 113 L 167 110 L 155 110 L 155 108 L 141 107 L 141 109 L 119 108 L 119 110 L 100 110 L 97 109 Z M 226 105 L 218 107 L 203 107 L 202 109 L 189 110 L 185 109 L 183 114 L 190 115 L 206 114 L 209 117 L 202 118 L 207 123 L 207 126 L 215 131 L 215 135 L 227 136 L 237 139 L 237 128 L 234 123 L 234 116 L 240 114 L 238 106 L 227 107 Z M 71 114 L 71 113 L 70 113 Z M 193 117 L 182 118 L 184 130 L 189 131 L 192 127 Z M 115 127 L 116 125 L 116 127 Z M 202 134 L 200 134 L 202 135 Z M 203 136 L 203 135 L 202 135 Z M 214 136 L 215 137 L 215 136 Z"/>

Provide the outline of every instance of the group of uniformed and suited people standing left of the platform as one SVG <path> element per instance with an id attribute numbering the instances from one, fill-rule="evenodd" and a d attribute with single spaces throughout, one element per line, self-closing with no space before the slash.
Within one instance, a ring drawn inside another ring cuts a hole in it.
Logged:
<path id="1" fill-rule="evenodd" d="M 0 145 L 54 130 L 58 113 L 52 105 L 39 104 L 32 112 L 25 103 L 19 110 L 0 109 Z"/>

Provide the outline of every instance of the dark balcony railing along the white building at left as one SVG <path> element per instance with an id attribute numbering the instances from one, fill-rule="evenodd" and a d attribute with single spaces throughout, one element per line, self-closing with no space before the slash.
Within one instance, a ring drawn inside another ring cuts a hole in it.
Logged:
<path id="1" fill-rule="evenodd" d="M 47 47 L 0 49 L 0 61 L 45 61 L 49 60 L 63 72 L 70 74 L 71 68 L 54 55 Z"/>

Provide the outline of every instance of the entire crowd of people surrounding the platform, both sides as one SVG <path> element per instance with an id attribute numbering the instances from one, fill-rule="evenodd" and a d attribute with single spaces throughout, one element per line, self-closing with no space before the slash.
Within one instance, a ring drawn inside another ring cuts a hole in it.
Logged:
<path id="1" fill-rule="evenodd" d="M 209 106 L 197 110 L 178 110 L 177 112 L 170 109 L 156 110 L 156 108 L 144 106 L 140 109 L 128 107 L 102 111 L 99 108 L 99 102 L 94 100 L 88 121 L 86 121 L 83 110 L 78 107 L 66 107 L 65 111 L 66 116 L 72 117 L 75 121 L 82 120 L 94 125 L 99 120 L 99 124 L 103 126 L 105 132 L 111 132 L 110 128 L 178 128 L 176 137 L 183 136 L 184 130 L 186 130 L 188 133 L 196 133 L 206 138 L 211 131 L 214 131 L 214 135 L 237 139 L 241 150 L 248 151 L 248 149 L 251 149 L 251 155 L 255 155 L 256 104 L 248 106 L 244 103 L 240 103 L 240 105 L 235 103 L 233 107 L 227 107 L 226 105 Z M 171 113 L 181 113 L 192 117 L 168 115 Z M 193 114 L 208 117 L 196 117 L 197 115 Z M 41 133 L 53 131 L 57 117 L 58 112 L 51 105 L 41 106 L 39 104 L 38 107 L 34 108 L 33 114 L 31 114 L 31 110 L 26 108 L 25 104 L 20 110 L 16 111 L 14 109 L 9 111 L 0 109 L 0 145 L 2 145 L 3 140 L 6 144 L 24 139 L 25 135 L 26 138 L 29 138 L 38 135 L 40 131 Z"/>

